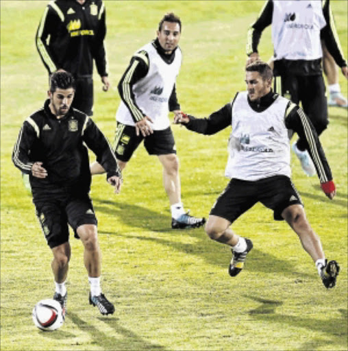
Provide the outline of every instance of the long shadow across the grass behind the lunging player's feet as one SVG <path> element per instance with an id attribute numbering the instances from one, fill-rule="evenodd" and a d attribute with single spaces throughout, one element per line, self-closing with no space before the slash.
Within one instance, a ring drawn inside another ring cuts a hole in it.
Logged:
<path id="1" fill-rule="evenodd" d="M 171 237 L 169 239 L 163 239 L 142 235 L 121 234 L 117 231 L 110 233 L 99 230 L 100 234 L 115 235 L 119 237 L 160 243 L 162 245 L 166 245 L 167 247 L 171 247 L 177 252 L 184 252 L 185 254 L 190 254 L 191 256 L 199 256 L 200 258 L 205 259 L 209 264 L 218 265 L 219 267 L 224 267 L 225 269 L 228 267 L 229 260 L 231 259 L 228 249 L 226 250 L 225 245 L 213 243 L 210 239 L 208 239 L 203 228 L 173 230 L 170 226 L 170 215 L 160 215 L 153 210 L 149 210 L 149 208 L 142 208 L 140 206 L 124 203 L 119 204 L 105 199 L 93 199 L 93 202 L 96 204 L 94 207 L 97 212 L 100 211 L 110 214 L 113 217 L 116 216 L 120 221 L 123 221 L 123 223 L 128 226 L 135 226 L 151 232 L 161 232 L 162 234 L 169 233 L 171 234 Z M 182 234 L 183 232 L 190 237 L 195 237 L 197 242 L 195 244 L 182 243 L 171 239 L 173 235 Z M 221 252 L 221 254 L 219 254 L 219 252 Z M 272 265 L 272 272 L 269 268 L 270 263 Z M 266 274 L 279 273 L 292 277 L 300 276 L 301 280 L 297 279 L 297 282 L 301 282 L 303 278 L 312 279 L 315 276 L 315 274 L 306 274 L 296 271 L 296 267 L 292 263 L 292 260 L 281 260 L 270 254 L 256 250 L 255 248 L 248 255 L 246 269 L 248 271 L 260 271 Z"/>

